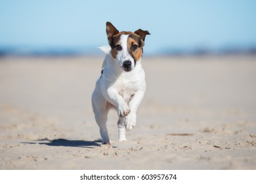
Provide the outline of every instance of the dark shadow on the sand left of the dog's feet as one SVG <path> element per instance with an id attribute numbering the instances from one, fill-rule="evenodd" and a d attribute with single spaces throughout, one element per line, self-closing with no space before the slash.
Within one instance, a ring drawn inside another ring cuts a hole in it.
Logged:
<path id="1" fill-rule="evenodd" d="M 47 146 L 66 146 L 66 147 L 81 147 L 81 148 L 94 148 L 95 146 L 100 146 L 101 141 L 79 141 L 79 140 L 67 140 L 67 139 L 53 139 L 49 140 L 39 139 L 39 142 L 22 142 L 24 144 L 41 144 Z M 41 142 L 46 141 L 46 142 Z"/>

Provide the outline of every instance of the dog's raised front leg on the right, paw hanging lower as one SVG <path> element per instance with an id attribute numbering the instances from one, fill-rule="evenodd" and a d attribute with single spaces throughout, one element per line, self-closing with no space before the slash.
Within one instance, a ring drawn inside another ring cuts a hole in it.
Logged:
<path id="1" fill-rule="evenodd" d="M 139 107 L 143 97 L 144 97 L 145 90 L 137 91 L 131 101 L 129 102 L 129 107 L 131 108 L 131 112 L 125 118 L 125 128 L 126 129 L 133 129 L 137 123 L 137 108 Z"/>

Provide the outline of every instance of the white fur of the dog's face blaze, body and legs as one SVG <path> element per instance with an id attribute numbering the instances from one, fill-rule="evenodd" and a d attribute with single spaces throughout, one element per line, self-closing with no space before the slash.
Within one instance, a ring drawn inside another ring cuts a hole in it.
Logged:
<path id="1" fill-rule="evenodd" d="M 108 110 L 116 108 L 119 114 L 118 139 L 127 141 L 125 129 L 133 129 L 137 122 L 137 108 L 139 107 L 146 90 L 145 73 L 141 67 L 140 60 L 135 61 L 127 50 L 128 35 L 121 35 L 119 44 L 122 50 L 118 52 L 116 59 L 112 58 L 110 50 L 106 47 L 102 50 L 107 52 L 102 65 L 104 69 L 102 76 L 96 81 L 92 97 L 95 120 L 100 127 L 102 144 L 110 144 L 106 122 Z M 129 59 L 132 70 L 123 70 L 123 61 Z"/>

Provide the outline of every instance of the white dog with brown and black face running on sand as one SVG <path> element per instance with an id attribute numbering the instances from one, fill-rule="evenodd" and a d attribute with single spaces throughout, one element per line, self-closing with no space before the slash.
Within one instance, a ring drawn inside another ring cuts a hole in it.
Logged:
<path id="1" fill-rule="evenodd" d="M 109 46 L 102 48 L 106 57 L 93 91 L 92 105 L 102 144 L 111 144 L 106 126 L 110 108 L 116 108 L 119 115 L 119 141 L 127 141 L 125 129 L 133 129 L 136 125 L 137 108 L 146 91 L 145 73 L 140 59 L 145 37 L 150 33 L 142 29 L 134 33 L 119 32 L 114 25 L 106 22 L 106 34 Z"/>

